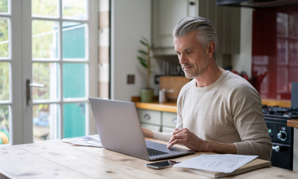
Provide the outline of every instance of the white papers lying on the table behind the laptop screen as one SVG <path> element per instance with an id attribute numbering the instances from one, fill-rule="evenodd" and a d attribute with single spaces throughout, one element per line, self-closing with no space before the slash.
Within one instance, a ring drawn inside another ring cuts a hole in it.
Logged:
<path id="1" fill-rule="evenodd" d="M 76 145 L 82 146 L 94 146 L 94 147 L 103 147 L 100 142 L 100 138 L 98 134 L 95 135 L 87 135 L 80 138 L 69 138 L 62 139 L 60 142 L 68 142 Z"/>

